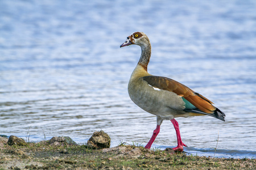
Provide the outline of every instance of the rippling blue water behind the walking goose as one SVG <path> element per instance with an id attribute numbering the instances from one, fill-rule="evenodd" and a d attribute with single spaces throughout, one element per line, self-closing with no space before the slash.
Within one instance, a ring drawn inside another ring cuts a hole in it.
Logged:
<path id="1" fill-rule="evenodd" d="M 148 71 L 208 97 L 226 114 L 177 118 L 189 154 L 256 157 L 255 1 L 0 1 L 0 134 L 86 142 L 104 130 L 112 146 L 146 145 L 156 118 L 127 94 L 143 31 Z M 217 145 L 217 151 L 214 154 Z M 164 121 L 152 147 L 176 146 Z"/>

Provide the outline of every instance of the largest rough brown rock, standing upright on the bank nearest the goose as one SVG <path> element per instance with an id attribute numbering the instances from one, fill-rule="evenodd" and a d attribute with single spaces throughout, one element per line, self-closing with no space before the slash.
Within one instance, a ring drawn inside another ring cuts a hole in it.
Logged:
<path id="1" fill-rule="evenodd" d="M 110 147 L 110 137 L 103 130 L 95 131 L 87 142 L 89 148 L 100 149 Z"/>

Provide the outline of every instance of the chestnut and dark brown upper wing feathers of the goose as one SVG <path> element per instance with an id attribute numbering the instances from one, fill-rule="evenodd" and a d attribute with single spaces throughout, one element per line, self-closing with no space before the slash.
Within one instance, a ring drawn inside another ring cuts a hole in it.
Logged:
<path id="1" fill-rule="evenodd" d="M 152 87 L 175 92 L 177 95 L 184 97 L 186 100 L 188 100 L 191 104 L 193 104 L 196 108 L 200 109 L 200 111 L 202 112 L 214 113 L 214 111 L 216 110 L 216 107 L 212 105 L 212 102 L 210 100 L 191 90 L 184 84 L 176 82 L 173 79 L 166 78 L 163 76 L 152 75 L 144 76 L 143 80 L 145 80 Z"/>

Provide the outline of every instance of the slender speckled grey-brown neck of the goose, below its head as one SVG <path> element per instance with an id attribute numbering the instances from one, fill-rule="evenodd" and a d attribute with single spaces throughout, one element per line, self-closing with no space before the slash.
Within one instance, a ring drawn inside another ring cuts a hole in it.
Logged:
<path id="1" fill-rule="evenodd" d="M 139 58 L 138 65 L 141 65 L 144 70 L 147 71 L 147 65 L 148 62 L 150 61 L 150 56 L 151 56 L 151 45 L 150 42 L 141 45 L 141 58 Z"/>

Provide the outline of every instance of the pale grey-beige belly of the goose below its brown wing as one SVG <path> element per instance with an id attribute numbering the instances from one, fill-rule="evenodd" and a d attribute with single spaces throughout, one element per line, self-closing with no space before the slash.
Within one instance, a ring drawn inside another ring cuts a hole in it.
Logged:
<path id="1" fill-rule="evenodd" d="M 174 92 L 166 90 L 154 90 L 147 83 L 130 83 L 128 92 L 131 100 L 144 111 L 170 120 L 184 114 L 184 101 Z"/>

